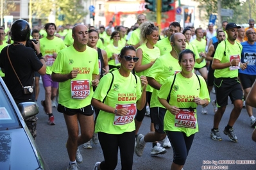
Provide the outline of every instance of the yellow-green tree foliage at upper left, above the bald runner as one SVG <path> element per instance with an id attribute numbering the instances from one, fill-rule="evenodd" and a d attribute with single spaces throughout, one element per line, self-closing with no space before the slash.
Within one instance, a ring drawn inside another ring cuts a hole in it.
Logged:
<path id="1" fill-rule="evenodd" d="M 47 22 L 50 13 L 55 13 L 56 25 L 83 22 L 83 17 L 87 15 L 81 0 L 34 0 L 32 13 L 43 22 Z M 64 15 L 63 21 L 58 20 L 59 15 Z"/>

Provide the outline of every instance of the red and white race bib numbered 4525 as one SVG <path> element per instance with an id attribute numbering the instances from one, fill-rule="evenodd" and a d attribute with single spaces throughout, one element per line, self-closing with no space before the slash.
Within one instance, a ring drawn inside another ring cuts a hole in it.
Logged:
<path id="1" fill-rule="evenodd" d="M 114 125 L 125 125 L 127 123 L 131 123 L 135 118 L 135 114 L 137 112 L 136 104 L 117 104 L 115 106 L 115 109 L 121 108 L 126 108 L 129 110 L 129 112 L 126 114 L 126 116 L 119 116 L 115 114 Z"/>

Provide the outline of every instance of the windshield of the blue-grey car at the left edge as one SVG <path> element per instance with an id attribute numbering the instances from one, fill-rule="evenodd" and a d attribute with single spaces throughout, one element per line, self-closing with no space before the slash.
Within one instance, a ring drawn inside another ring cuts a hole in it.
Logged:
<path id="1" fill-rule="evenodd" d="M 2 84 L 0 85 L 0 130 L 8 130 L 12 128 L 20 128 L 21 125 L 17 120 L 15 110 L 13 109 L 12 102 L 7 96 L 6 91 Z"/>

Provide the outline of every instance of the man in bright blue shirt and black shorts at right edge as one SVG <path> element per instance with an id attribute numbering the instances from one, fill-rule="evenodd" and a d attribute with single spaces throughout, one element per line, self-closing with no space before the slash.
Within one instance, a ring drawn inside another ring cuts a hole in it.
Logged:
<path id="1" fill-rule="evenodd" d="M 241 62 L 247 63 L 246 70 L 239 69 L 239 78 L 244 89 L 244 98 L 247 98 L 249 91 L 252 88 L 253 82 L 256 79 L 256 33 L 255 30 L 249 28 L 246 31 L 247 42 L 241 43 L 243 46 Z M 246 105 L 246 111 L 251 119 L 251 127 L 255 128 L 256 119 L 253 116 L 252 106 Z"/>

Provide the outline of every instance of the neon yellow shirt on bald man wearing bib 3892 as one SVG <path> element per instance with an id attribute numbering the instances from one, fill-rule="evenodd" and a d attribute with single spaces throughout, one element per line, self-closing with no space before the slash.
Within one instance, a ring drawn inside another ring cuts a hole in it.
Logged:
<path id="1" fill-rule="evenodd" d="M 60 50 L 55 63 L 53 63 L 52 71 L 60 74 L 67 74 L 72 70 L 78 70 L 77 77 L 59 83 L 59 104 L 70 109 L 80 109 L 81 107 L 90 105 L 94 93 L 91 82 L 92 74 L 99 74 L 97 50 L 87 46 L 85 51 L 78 52 L 74 49 L 73 45 Z M 89 91 L 87 91 L 89 92 L 89 94 L 87 94 L 88 96 L 84 99 L 72 98 L 71 81 L 76 83 L 78 83 L 78 81 L 89 81 L 89 83 L 86 84 L 86 87 L 89 88 Z"/>

